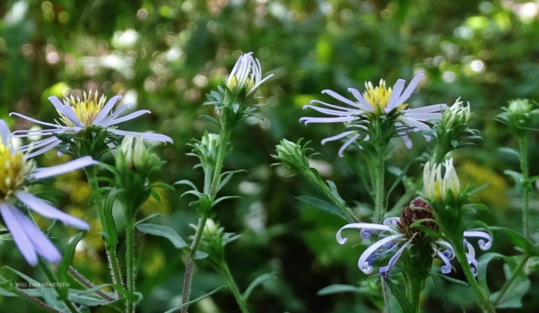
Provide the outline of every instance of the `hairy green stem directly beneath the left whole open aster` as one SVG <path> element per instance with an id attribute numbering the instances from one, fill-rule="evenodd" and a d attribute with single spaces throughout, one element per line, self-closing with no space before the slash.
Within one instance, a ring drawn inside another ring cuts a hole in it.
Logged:
<path id="1" fill-rule="evenodd" d="M 105 211 L 106 206 L 103 202 L 103 198 L 101 194 L 99 194 L 97 191 L 99 189 L 99 184 L 97 180 L 96 171 L 97 169 L 95 167 L 87 168 L 85 170 L 86 176 L 88 179 L 88 185 L 92 189 L 92 194 L 95 195 L 94 203 L 98 211 L 99 220 L 101 222 L 101 229 L 107 231 L 108 223 L 107 223 L 107 214 Z M 108 267 L 110 269 L 112 283 L 122 286 L 123 282 L 122 282 L 122 275 L 120 272 L 120 266 L 118 264 L 118 257 L 116 255 L 116 244 L 110 244 L 109 242 L 107 242 L 110 240 L 111 236 L 113 236 L 113 234 L 109 233 L 108 240 L 105 240 L 105 238 L 103 238 L 103 241 L 105 241 L 105 249 L 107 251 Z"/>

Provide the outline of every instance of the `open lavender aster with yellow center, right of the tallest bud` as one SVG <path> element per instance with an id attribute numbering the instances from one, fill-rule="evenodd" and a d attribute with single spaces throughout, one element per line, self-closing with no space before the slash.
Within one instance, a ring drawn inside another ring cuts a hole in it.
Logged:
<path id="1" fill-rule="evenodd" d="M 348 88 L 349 93 L 354 96 L 355 101 L 341 96 L 333 90 L 322 90 L 322 94 L 328 94 L 344 105 L 313 100 L 310 104 L 303 106 L 303 109 L 310 108 L 324 113 L 329 117 L 302 117 L 300 118 L 300 122 L 304 122 L 306 125 L 309 123 L 345 123 L 347 126 L 352 126 L 355 122 L 366 119 L 366 123 L 356 125 L 357 130 L 346 130 L 322 140 L 322 144 L 325 144 L 328 141 L 349 137 L 338 152 L 342 156 L 345 148 L 368 130 L 368 126 L 372 123 L 372 120 L 383 116 L 391 116 L 393 118 L 392 126 L 394 127 L 391 131 L 391 137 L 396 132 L 397 136 L 403 137 L 406 147 L 410 148 L 412 142 L 408 138 L 407 133 L 430 130 L 431 127 L 425 122 L 430 119 L 441 118 L 440 111 L 447 106 L 446 104 L 433 104 L 424 106 L 423 108 L 408 108 L 406 101 L 412 95 L 423 76 L 424 74 L 414 76 L 406 89 L 404 89 L 405 80 L 403 79 L 397 80 L 393 88 L 386 88 L 384 80 L 380 80 L 376 87 L 371 82 L 365 82 L 363 95 L 355 88 Z M 424 137 L 430 140 L 429 136 Z M 364 134 L 362 140 L 367 141 L 369 138 L 370 135 L 367 133 Z"/>

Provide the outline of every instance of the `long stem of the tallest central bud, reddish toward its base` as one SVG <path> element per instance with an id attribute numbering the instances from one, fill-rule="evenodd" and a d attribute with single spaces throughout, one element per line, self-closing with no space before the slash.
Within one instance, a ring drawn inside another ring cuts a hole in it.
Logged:
<path id="1" fill-rule="evenodd" d="M 223 169 L 223 161 L 225 160 L 227 145 L 229 144 L 230 140 L 230 133 L 231 130 L 228 129 L 228 127 L 226 127 L 225 125 L 223 125 L 222 131 L 219 134 L 219 143 L 217 145 L 217 159 L 215 162 L 215 169 L 213 170 L 213 174 L 211 177 L 211 184 L 209 184 L 209 190 L 207 190 L 208 184 L 204 183 L 204 193 L 208 194 L 210 197 L 215 197 L 217 194 L 217 188 L 219 187 L 219 176 L 221 175 L 221 170 Z M 208 175 L 209 173 L 204 174 Z M 207 177 L 204 178 L 205 181 L 210 181 L 210 179 L 208 179 Z M 191 244 L 191 251 L 189 252 L 189 259 L 187 260 L 187 264 L 185 266 L 185 276 L 183 279 L 182 303 L 189 302 L 189 296 L 191 294 L 192 275 L 195 267 L 195 254 L 197 252 L 198 244 L 200 243 L 202 237 L 202 231 L 204 230 L 204 226 L 206 225 L 206 220 L 208 220 L 207 216 L 199 218 L 197 231 L 195 233 L 195 240 Z M 188 309 L 189 306 L 186 305 L 182 308 L 181 312 L 186 313 Z"/>

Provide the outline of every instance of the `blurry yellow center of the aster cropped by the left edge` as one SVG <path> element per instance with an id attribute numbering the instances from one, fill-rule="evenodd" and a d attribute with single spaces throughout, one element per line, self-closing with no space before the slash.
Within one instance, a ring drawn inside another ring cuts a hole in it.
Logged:
<path id="1" fill-rule="evenodd" d="M 25 161 L 23 154 L 11 154 L 9 147 L 0 143 L 0 199 L 5 198 L 24 181 Z"/>

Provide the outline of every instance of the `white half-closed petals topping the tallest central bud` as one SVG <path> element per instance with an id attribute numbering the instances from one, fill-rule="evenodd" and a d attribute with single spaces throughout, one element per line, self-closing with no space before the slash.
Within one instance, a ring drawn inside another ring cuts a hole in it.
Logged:
<path id="1" fill-rule="evenodd" d="M 273 76 L 270 74 L 262 79 L 260 62 L 253 58 L 252 54 L 252 52 L 242 54 L 227 77 L 226 86 L 232 93 L 239 93 L 245 89 L 247 96 L 250 96 L 263 82 Z"/>

